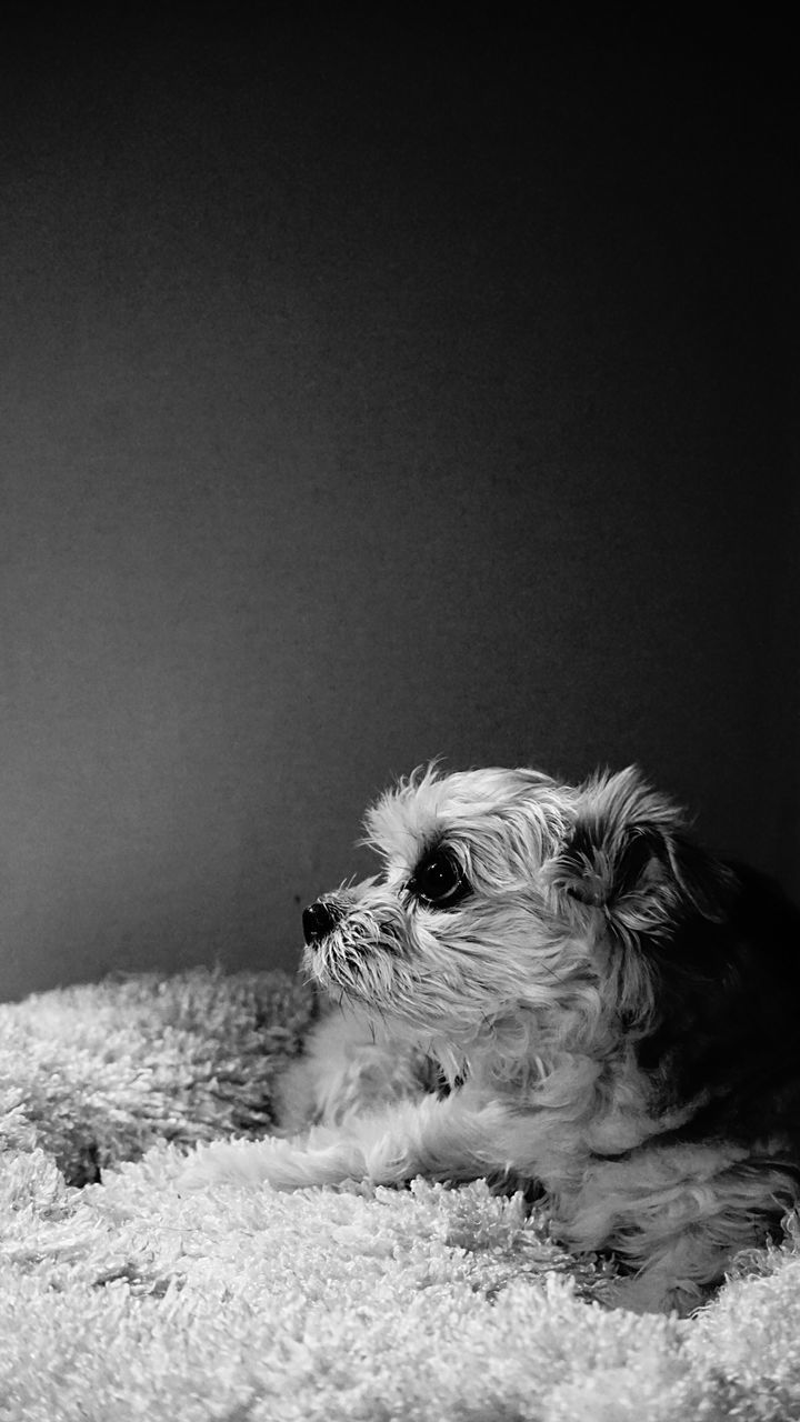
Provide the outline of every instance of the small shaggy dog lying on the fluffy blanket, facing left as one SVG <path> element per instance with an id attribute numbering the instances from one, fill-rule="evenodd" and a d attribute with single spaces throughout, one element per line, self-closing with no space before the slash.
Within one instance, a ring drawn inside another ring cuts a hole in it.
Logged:
<path id="1" fill-rule="evenodd" d="M 423 768 L 369 811 L 383 872 L 303 913 L 330 1010 L 283 1133 L 185 1185 L 487 1177 L 689 1314 L 800 1197 L 800 913 L 631 766 Z"/>

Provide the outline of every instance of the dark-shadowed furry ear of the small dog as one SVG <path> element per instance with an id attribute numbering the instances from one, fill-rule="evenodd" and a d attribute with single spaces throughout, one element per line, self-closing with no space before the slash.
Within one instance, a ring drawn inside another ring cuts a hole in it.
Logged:
<path id="1" fill-rule="evenodd" d="M 628 933 L 658 934 L 679 910 L 725 916 L 727 870 L 686 838 L 682 812 L 636 766 L 579 786 L 572 828 L 547 873 L 557 890 Z"/>

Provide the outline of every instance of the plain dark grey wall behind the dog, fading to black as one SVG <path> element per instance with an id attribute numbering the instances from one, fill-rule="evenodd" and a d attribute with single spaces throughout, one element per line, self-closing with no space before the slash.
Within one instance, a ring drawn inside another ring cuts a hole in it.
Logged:
<path id="1" fill-rule="evenodd" d="M 107 10 L 4 21 L 0 993 L 292 964 L 437 754 L 797 890 L 789 36 Z"/>

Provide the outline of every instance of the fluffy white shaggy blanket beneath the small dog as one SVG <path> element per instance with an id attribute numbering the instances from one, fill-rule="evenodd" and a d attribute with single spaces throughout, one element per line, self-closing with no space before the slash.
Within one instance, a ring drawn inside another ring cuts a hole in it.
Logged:
<path id="1" fill-rule="evenodd" d="M 268 973 L 0 1005 L 1 1419 L 800 1419 L 800 1230 L 679 1322 L 480 1183 L 179 1197 L 188 1143 L 269 1129 L 309 1012 Z"/>

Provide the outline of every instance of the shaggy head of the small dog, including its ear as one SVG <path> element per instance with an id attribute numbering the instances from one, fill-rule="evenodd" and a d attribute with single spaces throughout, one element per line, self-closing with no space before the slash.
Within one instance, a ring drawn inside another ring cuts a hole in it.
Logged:
<path id="1" fill-rule="evenodd" d="M 621 1014 L 643 1022 L 642 937 L 669 936 L 689 906 L 713 916 L 679 812 L 635 769 L 581 786 L 427 769 L 366 828 L 383 875 L 306 909 L 305 967 L 333 998 L 456 1052 L 498 1022 L 524 1021 L 549 1047 L 581 1034 L 596 1047 L 609 1014 L 616 1032 Z"/>

